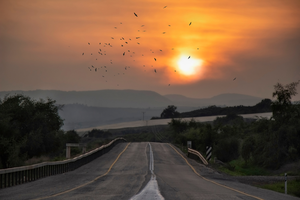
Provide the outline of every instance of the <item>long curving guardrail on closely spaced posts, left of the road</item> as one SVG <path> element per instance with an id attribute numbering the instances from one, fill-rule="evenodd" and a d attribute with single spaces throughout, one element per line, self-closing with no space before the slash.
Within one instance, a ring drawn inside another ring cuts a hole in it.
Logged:
<path id="1" fill-rule="evenodd" d="M 35 181 L 39 178 L 62 174 L 73 171 L 82 165 L 85 165 L 96 158 L 109 152 L 114 146 L 121 142 L 127 142 L 124 138 L 117 138 L 107 145 L 103 145 L 93 151 L 80 155 L 76 158 L 57 161 L 45 162 L 31 166 L 16 167 L 0 170 L 0 188 L 10 187 L 13 185 L 24 184 L 24 182 Z"/>

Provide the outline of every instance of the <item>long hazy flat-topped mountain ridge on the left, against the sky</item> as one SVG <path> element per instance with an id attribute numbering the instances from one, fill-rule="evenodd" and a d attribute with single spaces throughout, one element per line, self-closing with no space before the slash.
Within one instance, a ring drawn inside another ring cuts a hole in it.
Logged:
<path id="1" fill-rule="evenodd" d="M 96 91 L 60 91 L 60 90 L 33 90 L 33 91 L 1 91 L 0 98 L 5 94 L 23 93 L 34 99 L 50 97 L 58 104 L 86 104 L 88 106 L 111 108 L 148 108 L 164 107 L 172 104 L 168 98 L 145 90 L 96 90 Z"/>

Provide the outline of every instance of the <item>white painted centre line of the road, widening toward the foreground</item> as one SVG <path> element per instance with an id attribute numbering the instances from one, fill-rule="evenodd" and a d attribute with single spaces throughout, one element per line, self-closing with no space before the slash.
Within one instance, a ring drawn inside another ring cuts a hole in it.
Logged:
<path id="1" fill-rule="evenodd" d="M 148 142 L 149 143 L 149 142 Z M 150 145 L 150 143 L 149 143 Z M 152 200 L 152 199 L 158 199 L 158 200 L 164 200 L 164 197 L 161 196 L 161 193 L 158 189 L 158 184 L 156 181 L 156 175 L 154 174 L 154 159 L 153 159 L 153 152 L 150 145 L 150 171 L 151 171 L 151 179 L 148 182 L 148 184 L 144 187 L 143 190 L 141 190 L 138 194 L 131 197 L 130 200 Z"/>

